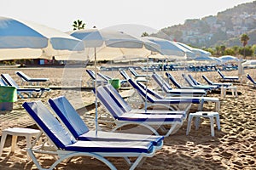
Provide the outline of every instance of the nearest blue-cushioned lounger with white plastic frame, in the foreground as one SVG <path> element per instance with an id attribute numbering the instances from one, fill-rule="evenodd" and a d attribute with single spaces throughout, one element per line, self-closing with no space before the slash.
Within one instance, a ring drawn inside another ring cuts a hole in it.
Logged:
<path id="1" fill-rule="evenodd" d="M 38 169 L 45 168 L 41 167 L 37 157 L 34 155 L 35 153 L 55 155 L 57 160 L 49 169 L 55 168 L 61 161 L 70 159 L 73 156 L 91 156 L 102 161 L 110 169 L 116 169 L 116 167 L 105 157 L 123 157 L 131 165 L 130 169 L 134 169 L 144 158 L 154 156 L 156 148 L 152 142 L 77 140 L 73 138 L 73 135 L 66 128 L 61 126 L 61 123 L 58 122 L 41 101 L 25 102 L 23 107 L 49 140 L 44 144 L 52 144 L 48 147 L 46 145 L 39 147 L 34 142 L 32 147 L 27 149 L 29 156 L 32 157 L 32 161 Z M 137 157 L 137 159 L 131 164 L 128 157 Z"/>

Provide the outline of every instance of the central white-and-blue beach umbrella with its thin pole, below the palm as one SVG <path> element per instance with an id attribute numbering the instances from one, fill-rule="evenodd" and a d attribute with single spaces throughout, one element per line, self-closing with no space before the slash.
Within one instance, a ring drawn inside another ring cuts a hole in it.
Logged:
<path id="1" fill-rule="evenodd" d="M 70 35 L 84 42 L 84 48 L 88 54 L 87 59 L 94 60 L 95 72 L 97 60 L 113 60 L 120 56 L 148 57 L 152 51 L 160 52 L 160 47 L 154 42 L 143 41 L 138 37 L 126 34 L 124 31 L 113 31 L 109 29 L 90 29 L 70 32 Z M 94 58 L 90 56 L 94 55 Z M 96 74 L 97 75 L 97 74 Z M 96 82 L 95 93 L 96 91 Z M 96 95 L 97 96 L 97 95 Z M 96 135 L 97 135 L 97 97 L 96 105 Z"/>

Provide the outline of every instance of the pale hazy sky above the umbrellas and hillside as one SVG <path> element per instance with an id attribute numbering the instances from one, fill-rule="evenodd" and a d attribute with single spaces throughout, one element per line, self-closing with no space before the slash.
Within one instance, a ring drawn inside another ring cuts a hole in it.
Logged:
<path id="1" fill-rule="evenodd" d="M 79 19 L 85 28 L 136 25 L 150 33 L 250 2 L 253 0 L 0 0 L 0 16 L 60 31 L 72 31 L 73 21 Z"/>

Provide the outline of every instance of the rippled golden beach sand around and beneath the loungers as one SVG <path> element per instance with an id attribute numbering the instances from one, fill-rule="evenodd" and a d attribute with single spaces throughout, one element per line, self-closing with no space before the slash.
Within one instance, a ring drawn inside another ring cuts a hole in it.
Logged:
<path id="1" fill-rule="evenodd" d="M 83 68 L 55 67 L 1 67 L 1 73 L 9 73 L 16 82 L 20 84 L 20 78 L 15 71 L 23 71 L 30 77 L 48 77 L 49 83 L 42 83 L 42 87 L 81 87 L 88 86 L 86 83 L 89 77 L 84 73 Z M 256 78 L 255 70 L 245 70 Z M 180 72 L 173 72 L 175 77 L 180 77 Z M 237 75 L 237 71 L 226 71 L 226 75 Z M 108 72 L 108 74 L 110 74 Z M 113 76 L 113 73 L 111 73 Z M 192 73 L 198 80 L 201 80 L 202 73 Z M 217 72 L 203 73 L 214 82 L 218 82 Z M 118 73 L 114 73 L 116 77 Z M 64 78 L 63 78 L 64 77 Z M 81 79 L 83 81 L 81 81 Z M 72 81 L 70 81 L 72 80 Z M 186 136 L 187 122 L 183 123 L 177 133 L 166 137 L 164 146 L 157 151 L 155 156 L 148 158 L 143 167 L 137 169 L 256 169 L 256 88 L 251 84 L 236 83 L 240 95 L 234 98 L 227 95 L 221 99 L 219 111 L 221 131 L 215 127 L 215 137 L 211 136 L 210 123 L 207 119 L 201 123 L 199 130 L 192 127 L 191 132 Z M 81 83 L 82 82 L 82 83 Z M 201 80 L 201 82 L 203 82 Z M 154 86 L 154 84 L 151 84 Z M 49 98 L 66 95 L 72 104 L 78 109 L 81 116 L 86 117 L 86 123 L 94 128 L 94 108 L 91 105 L 95 99 L 90 90 L 52 90 L 49 95 L 40 98 L 45 104 Z M 220 97 L 220 94 L 208 94 L 210 97 Z M 0 113 L 0 135 L 7 127 L 32 127 L 37 128 L 32 119 L 22 107 L 25 101 L 38 100 L 18 99 L 14 103 L 13 111 L 2 111 Z M 204 111 L 212 111 L 214 105 L 205 105 Z M 191 108 L 190 112 L 195 111 Z M 109 117 L 102 105 L 99 112 Z M 109 127 L 100 124 L 103 130 L 110 131 Z M 10 153 L 11 138 L 8 137 L 3 155 L 0 157 L 0 169 L 37 169 L 32 161 L 26 161 L 26 140 L 18 138 L 15 153 Z M 53 163 L 51 156 L 38 155 L 38 160 L 44 166 Z M 128 169 L 125 161 L 120 158 L 109 158 L 118 169 Z M 88 157 L 75 157 L 68 163 L 61 163 L 58 169 L 108 169 L 100 161 Z"/>

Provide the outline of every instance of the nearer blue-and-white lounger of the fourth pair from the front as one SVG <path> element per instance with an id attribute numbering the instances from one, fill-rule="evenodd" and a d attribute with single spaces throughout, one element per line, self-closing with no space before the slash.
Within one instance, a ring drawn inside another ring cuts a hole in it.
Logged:
<path id="1" fill-rule="evenodd" d="M 172 88 L 166 80 L 164 80 L 160 75 L 153 73 L 152 77 L 154 81 L 158 84 L 159 88 L 163 90 L 167 95 L 171 96 L 180 96 L 180 95 L 189 95 L 189 96 L 203 96 L 207 92 L 203 89 L 177 89 Z"/>

